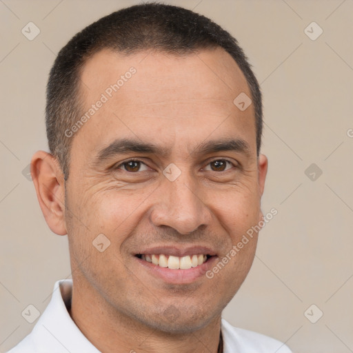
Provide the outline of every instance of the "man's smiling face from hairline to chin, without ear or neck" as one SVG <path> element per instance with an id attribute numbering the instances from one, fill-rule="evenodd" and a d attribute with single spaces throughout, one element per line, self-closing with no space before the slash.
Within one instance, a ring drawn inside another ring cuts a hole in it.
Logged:
<path id="1" fill-rule="evenodd" d="M 119 90 L 107 91 L 131 67 Z M 256 158 L 254 106 L 233 103 L 250 97 L 245 78 L 221 49 L 104 50 L 81 80 L 85 112 L 101 94 L 107 101 L 72 137 L 65 227 L 77 293 L 165 332 L 199 329 L 232 299 L 256 248 L 254 236 L 205 276 L 261 219 L 266 161 Z M 163 267 L 169 256 L 170 267 L 186 256 L 186 269 Z"/>

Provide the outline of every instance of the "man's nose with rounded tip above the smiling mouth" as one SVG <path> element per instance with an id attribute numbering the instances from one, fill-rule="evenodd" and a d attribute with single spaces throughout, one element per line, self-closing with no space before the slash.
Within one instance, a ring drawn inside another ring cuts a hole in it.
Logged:
<path id="1" fill-rule="evenodd" d="M 154 194 L 156 202 L 150 220 L 157 227 L 174 228 L 179 234 L 190 234 L 210 225 L 211 212 L 200 189 L 191 177 L 180 176 L 175 181 L 165 179 Z"/>

